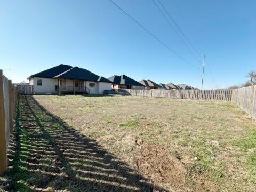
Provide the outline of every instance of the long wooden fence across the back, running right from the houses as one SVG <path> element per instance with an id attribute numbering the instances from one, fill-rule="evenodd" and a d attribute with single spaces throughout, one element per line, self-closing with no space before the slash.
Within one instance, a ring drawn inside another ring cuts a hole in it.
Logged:
<path id="1" fill-rule="evenodd" d="M 201 100 L 224 100 L 230 101 L 232 90 L 137 90 L 137 89 L 114 89 L 116 93 L 173 99 L 201 99 Z"/>

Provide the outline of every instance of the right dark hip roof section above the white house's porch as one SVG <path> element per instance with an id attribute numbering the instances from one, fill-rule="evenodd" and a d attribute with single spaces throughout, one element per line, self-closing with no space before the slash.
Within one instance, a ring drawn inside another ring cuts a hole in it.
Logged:
<path id="1" fill-rule="evenodd" d="M 111 81 L 107 81 L 106 78 L 100 77 L 98 75 L 95 75 L 91 71 L 79 67 L 73 67 L 54 78 L 68 78 L 68 79 L 78 79 L 78 80 L 84 80 L 84 81 L 95 81 L 95 82 L 108 82 L 112 83 Z"/>

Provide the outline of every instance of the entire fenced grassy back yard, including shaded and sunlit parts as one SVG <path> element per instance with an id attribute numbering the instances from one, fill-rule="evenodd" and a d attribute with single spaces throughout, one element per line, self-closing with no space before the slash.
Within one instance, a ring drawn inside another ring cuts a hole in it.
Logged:
<path id="1" fill-rule="evenodd" d="M 22 95 L 11 143 L 3 190 L 256 188 L 256 123 L 231 102 Z"/>

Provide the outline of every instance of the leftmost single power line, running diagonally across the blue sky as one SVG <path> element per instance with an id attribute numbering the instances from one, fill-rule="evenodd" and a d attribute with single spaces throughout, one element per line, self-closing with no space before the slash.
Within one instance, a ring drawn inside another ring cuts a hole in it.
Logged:
<path id="1" fill-rule="evenodd" d="M 135 23 L 137 23 L 142 29 L 146 30 L 148 34 L 150 34 L 152 37 L 154 37 L 158 42 L 160 42 L 162 45 L 164 45 L 167 49 L 169 49 L 171 52 L 173 52 L 175 55 L 177 55 L 180 59 L 182 59 L 183 61 L 185 61 L 186 63 L 188 63 L 189 65 L 195 67 L 196 69 L 198 69 L 197 66 L 193 65 L 192 63 L 188 62 L 186 59 L 184 59 L 183 57 L 181 57 L 177 52 L 173 51 L 168 45 L 166 45 L 163 41 L 161 41 L 161 39 L 159 39 L 158 37 L 156 37 L 153 33 L 151 33 L 148 29 L 146 29 L 145 27 L 143 27 L 137 20 L 135 20 L 130 14 L 128 14 L 127 12 L 125 12 L 120 6 L 118 6 L 115 2 L 113 2 L 112 0 L 109 0 L 111 3 L 113 3 L 119 10 L 121 10 L 124 14 L 126 14 L 129 18 L 131 18 Z"/>

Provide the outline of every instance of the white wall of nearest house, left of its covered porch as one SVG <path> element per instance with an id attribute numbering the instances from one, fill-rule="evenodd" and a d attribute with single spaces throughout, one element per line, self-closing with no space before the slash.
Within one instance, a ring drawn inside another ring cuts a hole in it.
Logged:
<path id="1" fill-rule="evenodd" d="M 55 91 L 55 85 L 58 85 L 57 79 L 41 78 L 41 77 L 33 77 L 33 78 L 34 78 L 34 93 L 57 93 Z M 42 79 L 41 86 L 37 85 L 37 79 Z"/>

